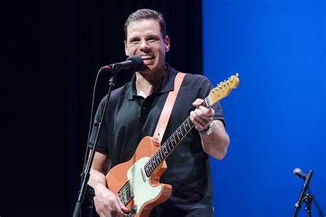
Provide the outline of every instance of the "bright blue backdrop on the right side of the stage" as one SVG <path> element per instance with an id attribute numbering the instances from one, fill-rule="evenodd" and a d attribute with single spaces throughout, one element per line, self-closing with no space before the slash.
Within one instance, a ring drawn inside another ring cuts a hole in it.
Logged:
<path id="1" fill-rule="evenodd" d="M 296 167 L 326 214 L 325 14 L 324 0 L 203 1 L 204 73 L 240 78 L 221 100 L 228 155 L 210 159 L 215 216 L 292 216 Z"/>

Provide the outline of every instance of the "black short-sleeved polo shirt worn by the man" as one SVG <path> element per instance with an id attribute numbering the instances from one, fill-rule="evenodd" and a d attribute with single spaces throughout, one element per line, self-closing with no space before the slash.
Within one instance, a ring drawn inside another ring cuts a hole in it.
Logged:
<path id="1" fill-rule="evenodd" d="M 166 76 L 161 87 L 147 98 L 137 95 L 135 76 L 131 82 L 112 91 L 96 146 L 96 150 L 109 156 L 112 166 L 131 159 L 140 140 L 146 136 L 153 136 L 167 95 L 173 90 L 177 73 L 169 65 L 166 67 Z M 204 76 L 186 74 L 161 144 L 195 109 L 192 103 L 197 98 L 206 98 L 212 88 Z M 97 122 L 100 122 L 105 100 L 106 97 L 98 106 L 95 118 Z M 213 105 L 213 109 L 214 119 L 224 122 L 219 103 Z M 91 141 L 94 141 L 96 131 L 97 129 L 93 128 Z M 173 191 L 169 200 L 155 207 L 151 215 L 166 216 L 170 212 L 175 214 L 183 212 L 184 209 L 195 209 L 197 205 L 210 207 L 212 190 L 208 159 L 208 155 L 202 149 L 199 133 L 193 128 L 166 159 L 168 168 L 162 174 L 160 182 L 172 185 Z"/>

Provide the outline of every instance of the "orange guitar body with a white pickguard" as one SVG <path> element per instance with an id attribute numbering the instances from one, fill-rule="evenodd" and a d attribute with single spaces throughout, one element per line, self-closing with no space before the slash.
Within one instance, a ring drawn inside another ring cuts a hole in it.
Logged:
<path id="1" fill-rule="evenodd" d="M 155 145 L 153 137 L 144 137 L 142 141 L 140 141 L 133 157 L 127 162 L 114 166 L 107 174 L 107 187 L 115 194 L 118 194 L 125 183 L 128 181 L 131 183 L 133 196 L 131 200 L 122 200 L 122 203 L 124 203 L 129 211 L 131 211 L 133 207 L 137 207 L 137 211 L 135 211 L 132 216 L 149 216 L 155 205 L 164 203 L 171 195 L 171 185 L 160 184 L 160 176 L 166 170 L 165 161 L 162 161 L 149 177 L 144 177 L 144 174 L 138 172 L 140 171 L 139 168 L 141 168 L 141 166 L 146 163 L 147 159 L 151 158 L 159 148 L 160 144 Z M 142 165 L 139 167 L 136 164 Z M 136 169 L 131 169 L 133 167 L 136 167 Z M 128 176 L 127 173 L 129 174 Z M 146 178 L 146 180 L 144 180 L 144 178 Z M 138 187 L 138 185 L 140 185 L 140 187 Z M 156 193 L 151 194 L 146 192 L 151 191 L 152 187 L 155 188 Z"/>

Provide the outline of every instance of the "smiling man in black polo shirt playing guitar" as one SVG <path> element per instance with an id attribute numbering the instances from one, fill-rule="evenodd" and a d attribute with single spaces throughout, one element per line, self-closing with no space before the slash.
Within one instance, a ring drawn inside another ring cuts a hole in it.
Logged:
<path id="1" fill-rule="evenodd" d="M 89 179 L 100 216 L 122 216 L 128 211 L 118 195 L 107 189 L 105 176 L 111 166 L 131 159 L 142 137 L 153 136 L 177 73 L 165 62 L 170 38 L 162 14 L 138 10 L 127 19 L 124 33 L 126 55 L 141 56 L 144 67 L 135 72 L 131 82 L 111 93 Z M 199 106 L 210 89 L 204 76 L 184 77 L 161 144 L 189 114 L 195 128 L 166 159 L 167 170 L 160 182 L 172 185 L 173 191 L 168 201 L 154 207 L 151 216 L 213 216 L 208 155 L 223 159 L 229 138 L 219 104 L 213 108 Z M 97 121 L 104 102 L 105 98 L 96 113 Z M 95 133 L 96 128 L 93 138 Z"/>

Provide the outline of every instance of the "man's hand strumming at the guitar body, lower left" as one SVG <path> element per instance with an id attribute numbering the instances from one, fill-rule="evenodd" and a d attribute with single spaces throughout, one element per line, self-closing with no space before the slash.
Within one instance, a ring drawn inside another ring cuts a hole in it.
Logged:
<path id="1" fill-rule="evenodd" d="M 128 212 L 118 195 L 114 194 L 105 187 L 98 184 L 95 187 L 94 203 L 96 212 L 100 217 L 123 216 Z"/>

